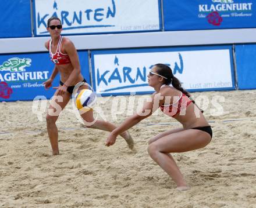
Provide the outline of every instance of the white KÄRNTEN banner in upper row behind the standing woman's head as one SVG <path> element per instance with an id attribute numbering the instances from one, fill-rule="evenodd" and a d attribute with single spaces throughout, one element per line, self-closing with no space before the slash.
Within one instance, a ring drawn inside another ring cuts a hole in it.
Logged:
<path id="1" fill-rule="evenodd" d="M 35 34 L 48 35 L 47 20 L 57 16 L 62 34 L 161 30 L 159 0 L 35 0 Z"/>

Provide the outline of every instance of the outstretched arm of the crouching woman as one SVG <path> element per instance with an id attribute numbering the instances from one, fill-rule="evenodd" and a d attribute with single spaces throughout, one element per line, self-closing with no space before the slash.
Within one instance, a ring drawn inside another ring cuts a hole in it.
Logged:
<path id="1" fill-rule="evenodd" d="M 111 134 L 109 134 L 106 140 L 106 146 L 110 146 L 115 144 L 116 137 L 125 132 L 126 130 L 130 129 L 134 125 L 136 125 L 141 120 L 147 118 L 148 116 L 152 115 L 155 112 L 159 105 L 163 103 L 162 97 L 160 94 L 152 94 L 150 101 L 146 101 L 143 105 L 141 111 L 138 111 L 136 114 L 129 116 L 120 126 L 116 127 Z"/>

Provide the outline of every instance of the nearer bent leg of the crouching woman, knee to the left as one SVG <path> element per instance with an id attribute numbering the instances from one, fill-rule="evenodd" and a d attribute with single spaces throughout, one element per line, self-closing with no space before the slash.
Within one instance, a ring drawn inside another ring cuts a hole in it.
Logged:
<path id="1" fill-rule="evenodd" d="M 205 147 L 211 136 L 201 130 L 189 129 L 163 136 L 148 146 L 151 158 L 162 167 L 177 184 L 178 189 L 187 189 L 182 173 L 171 152 L 186 152 Z"/>

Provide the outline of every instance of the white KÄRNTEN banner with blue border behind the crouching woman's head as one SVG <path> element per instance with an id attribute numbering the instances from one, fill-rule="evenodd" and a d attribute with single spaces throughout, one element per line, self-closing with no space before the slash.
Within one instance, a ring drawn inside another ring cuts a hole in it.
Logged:
<path id="1" fill-rule="evenodd" d="M 146 94 L 152 65 L 167 64 L 191 91 L 234 89 L 232 46 L 98 50 L 91 53 L 93 86 L 101 95 Z"/>

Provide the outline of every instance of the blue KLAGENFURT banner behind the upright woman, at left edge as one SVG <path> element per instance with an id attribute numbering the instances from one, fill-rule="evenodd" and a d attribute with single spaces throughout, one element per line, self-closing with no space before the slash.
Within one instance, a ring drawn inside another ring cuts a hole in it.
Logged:
<path id="1" fill-rule="evenodd" d="M 79 52 L 79 60 L 81 74 L 90 84 L 88 52 Z M 51 98 L 55 89 L 45 90 L 42 83 L 51 76 L 53 69 L 49 53 L 0 56 L 0 101 L 33 100 L 36 96 Z M 59 86 L 59 75 L 52 86 Z"/>

